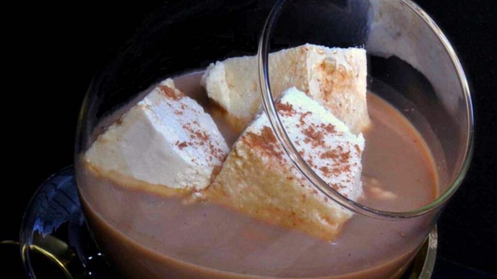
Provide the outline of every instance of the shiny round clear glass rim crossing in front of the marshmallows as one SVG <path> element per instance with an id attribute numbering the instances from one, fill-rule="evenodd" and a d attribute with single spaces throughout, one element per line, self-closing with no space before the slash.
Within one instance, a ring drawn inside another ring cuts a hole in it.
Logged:
<path id="1" fill-rule="evenodd" d="M 325 181 L 323 181 L 307 164 L 307 162 L 300 156 L 299 152 L 293 145 L 291 139 L 288 137 L 283 124 L 279 118 L 279 115 L 274 106 L 274 100 L 272 98 L 270 84 L 269 84 L 269 70 L 268 70 L 268 55 L 269 55 L 269 41 L 271 38 L 271 32 L 274 27 L 274 23 L 279 15 L 280 10 L 283 8 L 287 0 L 278 0 L 276 4 L 271 9 L 269 16 L 264 24 L 260 39 L 259 46 L 257 50 L 257 60 L 258 60 L 258 75 L 259 83 L 262 95 L 262 105 L 266 115 L 268 116 L 269 123 L 276 134 L 276 138 L 283 147 L 283 150 L 291 159 L 293 164 L 302 173 L 302 175 L 321 193 L 325 194 L 328 198 L 332 199 L 340 206 L 349 209 L 353 212 L 376 218 L 376 219 L 406 219 L 412 218 L 420 215 L 424 215 L 431 212 L 441 206 L 443 206 L 459 188 L 466 173 L 468 172 L 471 158 L 473 156 L 474 149 L 474 117 L 473 117 L 473 105 L 471 101 L 471 93 L 466 78 L 466 74 L 462 68 L 462 65 L 457 58 L 454 48 L 450 44 L 447 37 L 443 34 L 438 25 L 431 19 L 431 17 L 422 10 L 417 4 L 410 0 L 398 0 L 399 2 L 408 6 L 415 14 L 417 14 L 431 29 L 431 31 L 437 36 L 438 40 L 444 46 L 446 53 L 449 55 L 452 65 L 455 68 L 460 86 L 464 92 L 464 101 L 466 104 L 466 114 L 468 117 L 467 125 L 467 137 L 466 137 L 466 150 L 463 162 L 459 168 L 456 178 L 452 181 L 450 187 L 435 201 L 431 204 L 421 207 L 419 209 L 409 210 L 409 211 L 384 211 L 374 208 L 364 206 L 360 203 L 354 202 L 336 190 L 331 188 Z"/>

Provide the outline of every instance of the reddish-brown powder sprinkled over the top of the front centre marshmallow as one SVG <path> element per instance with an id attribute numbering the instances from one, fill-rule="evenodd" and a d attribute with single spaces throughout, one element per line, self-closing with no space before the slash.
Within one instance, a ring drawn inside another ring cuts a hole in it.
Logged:
<path id="1" fill-rule="evenodd" d="M 361 156 L 360 146 L 344 140 L 344 132 L 340 128 L 328 120 L 321 122 L 317 119 L 318 114 L 315 116 L 313 112 L 302 109 L 298 103 L 278 101 L 275 106 L 287 133 L 294 133 L 290 136 L 294 138 L 294 144 L 302 158 L 333 189 L 348 197 L 347 193 L 352 191 L 348 187 L 356 181 L 357 163 L 353 161 Z M 287 164 L 291 162 L 278 144 L 273 130 L 268 125 L 259 127 L 260 130 L 246 132 L 241 141 L 249 149 L 261 152 L 265 158 L 289 167 Z M 300 179 L 303 183 L 306 181 L 303 177 Z"/>

